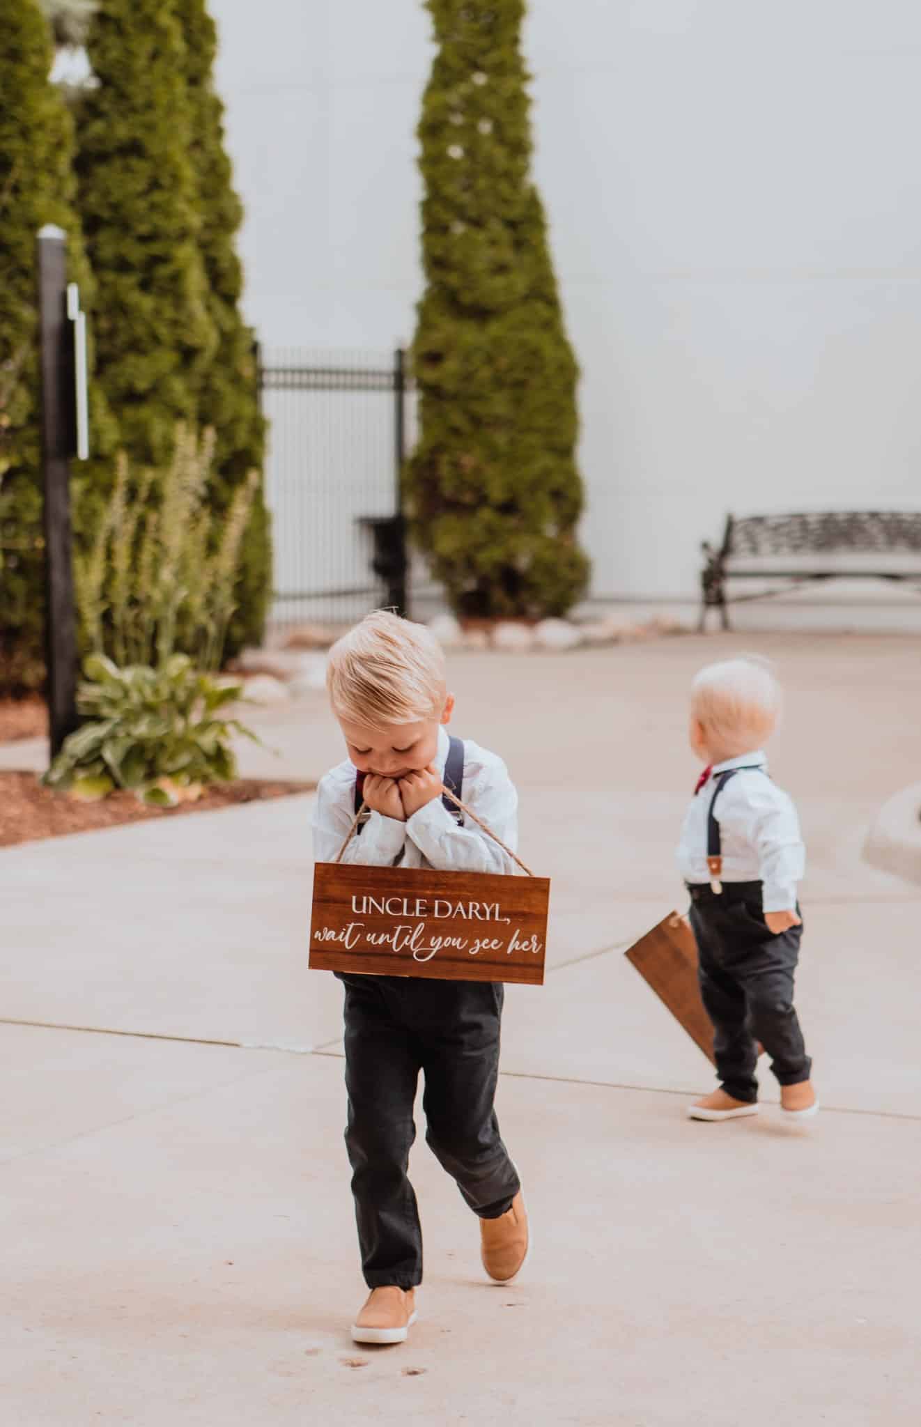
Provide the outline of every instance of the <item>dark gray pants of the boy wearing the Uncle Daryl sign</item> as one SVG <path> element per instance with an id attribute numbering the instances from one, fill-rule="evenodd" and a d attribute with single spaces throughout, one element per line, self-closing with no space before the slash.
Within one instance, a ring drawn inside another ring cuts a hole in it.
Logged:
<path id="1" fill-rule="evenodd" d="M 368 1287 L 422 1281 L 422 1230 L 406 1176 L 425 1073 L 426 1140 L 469 1207 L 495 1219 L 520 1189 L 493 1109 L 505 987 L 412 976 L 345 985 L 345 1143 Z"/>

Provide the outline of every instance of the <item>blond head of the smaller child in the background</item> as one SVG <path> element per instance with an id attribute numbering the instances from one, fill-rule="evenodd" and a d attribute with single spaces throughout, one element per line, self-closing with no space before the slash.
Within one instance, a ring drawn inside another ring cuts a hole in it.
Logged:
<path id="1" fill-rule="evenodd" d="M 691 684 L 691 715 L 731 756 L 748 753 L 777 726 L 783 705 L 768 659 L 743 654 L 709 664 Z"/>

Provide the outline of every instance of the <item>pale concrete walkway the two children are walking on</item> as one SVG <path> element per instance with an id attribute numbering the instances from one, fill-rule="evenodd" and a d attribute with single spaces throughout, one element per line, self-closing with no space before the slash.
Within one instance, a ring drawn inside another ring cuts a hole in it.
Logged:
<path id="1" fill-rule="evenodd" d="M 486 1284 L 421 1136 L 402 1349 L 346 1334 L 309 796 L 0 852 L 4 1423 L 914 1427 L 921 889 L 860 849 L 917 778 L 921 661 L 902 636 L 744 642 L 788 689 L 773 765 L 810 846 L 798 1005 L 827 1113 L 686 1122 L 711 1072 L 622 955 L 680 902 L 684 691 L 734 642 L 456 658 L 456 729 L 506 755 L 553 878 L 552 970 L 509 989 L 499 1099 L 536 1246 L 520 1284 Z M 339 756 L 321 695 L 257 721 L 282 752 L 245 772 Z"/>

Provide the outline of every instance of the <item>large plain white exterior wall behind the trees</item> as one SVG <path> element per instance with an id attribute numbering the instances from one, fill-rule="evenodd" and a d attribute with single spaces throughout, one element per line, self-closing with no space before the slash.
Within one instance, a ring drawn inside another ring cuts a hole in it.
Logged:
<path id="1" fill-rule="evenodd" d="M 212 0 L 267 347 L 419 295 L 422 0 Z M 530 0 L 593 594 L 694 595 L 727 509 L 921 508 L 917 0 Z"/>

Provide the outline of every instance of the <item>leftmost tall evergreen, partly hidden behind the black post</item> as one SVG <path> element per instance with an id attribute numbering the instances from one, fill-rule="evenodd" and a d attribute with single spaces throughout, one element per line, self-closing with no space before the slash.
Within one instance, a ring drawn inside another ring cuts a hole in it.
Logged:
<path id="1" fill-rule="evenodd" d="M 67 234 L 68 275 L 93 290 L 73 207 L 73 123 L 51 84 L 53 44 L 34 0 L 0 24 L 0 688 L 40 684 L 44 646 L 36 238 Z M 94 427 L 107 431 L 94 405 Z"/>

